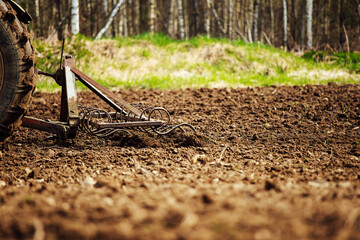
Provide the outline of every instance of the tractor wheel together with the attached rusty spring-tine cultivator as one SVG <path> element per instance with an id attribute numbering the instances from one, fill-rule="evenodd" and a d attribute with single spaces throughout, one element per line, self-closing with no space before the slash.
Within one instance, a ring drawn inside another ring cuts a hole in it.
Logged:
<path id="1" fill-rule="evenodd" d="M 26 25 L 31 16 L 13 0 L 0 0 L 0 140 L 20 125 L 47 131 L 62 139 L 75 138 L 78 130 L 106 137 L 118 131 L 138 129 L 165 135 L 176 129 L 195 129 L 187 123 L 172 125 L 170 114 L 161 107 L 131 104 L 119 98 L 75 66 L 72 56 L 63 57 L 55 73 L 36 68 L 35 50 Z M 58 122 L 28 117 L 37 75 L 53 78 L 61 86 L 61 111 Z M 82 82 L 114 111 L 78 105 L 76 81 Z"/>

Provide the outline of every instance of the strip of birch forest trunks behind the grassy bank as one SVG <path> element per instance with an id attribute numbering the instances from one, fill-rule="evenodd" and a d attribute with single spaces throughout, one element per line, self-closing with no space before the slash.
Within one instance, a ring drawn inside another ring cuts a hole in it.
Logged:
<path id="1" fill-rule="evenodd" d="M 360 50 L 360 0 L 19 0 L 36 38 L 81 33 L 173 39 L 197 35 L 262 42 L 294 51 Z"/>

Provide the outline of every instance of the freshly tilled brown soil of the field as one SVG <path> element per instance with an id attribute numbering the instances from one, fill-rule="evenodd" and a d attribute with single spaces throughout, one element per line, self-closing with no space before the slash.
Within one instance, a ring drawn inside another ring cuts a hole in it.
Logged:
<path id="1" fill-rule="evenodd" d="M 20 128 L 0 144 L 0 238 L 360 239 L 360 85 L 121 96 L 197 133 Z M 54 119 L 59 103 L 36 93 L 30 113 Z"/>

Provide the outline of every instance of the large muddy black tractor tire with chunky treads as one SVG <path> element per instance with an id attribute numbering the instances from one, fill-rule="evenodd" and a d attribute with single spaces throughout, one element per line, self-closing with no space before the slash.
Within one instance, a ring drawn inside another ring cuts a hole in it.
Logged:
<path id="1" fill-rule="evenodd" d="M 30 34 L 10 4 L 0 0 L 0 141 L 21 125 L 36 76 Z"/>

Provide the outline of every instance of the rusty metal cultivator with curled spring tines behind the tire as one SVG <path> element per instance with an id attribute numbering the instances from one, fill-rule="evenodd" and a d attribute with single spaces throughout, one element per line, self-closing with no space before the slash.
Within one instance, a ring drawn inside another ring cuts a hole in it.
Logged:
<path id="1" fill-rule="evenodd" d="M 131 104 L 119 98 L 75 67 L 71 56 L 61 57 L 60 68 L 55 74 L 39 70 L 40 75 L 49 76 L 62 87 L 60 121 L 51 122 L 25 116 L 22 126 L 56 134 L 62 139 L 75 138 L 78 130 L 98 137 L 108 137 L 119 131 L 136 129 L 157 135 L 166 135 L 176 129 L 195 131 L 187 123 L 171 124 L 170 114 L 162 107 Z M 76 80 L 105 101 L 113 112 L 79 106 L 76 94 Z"/>

